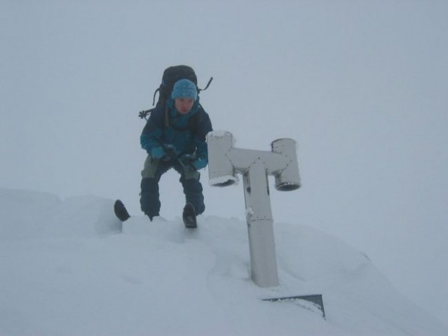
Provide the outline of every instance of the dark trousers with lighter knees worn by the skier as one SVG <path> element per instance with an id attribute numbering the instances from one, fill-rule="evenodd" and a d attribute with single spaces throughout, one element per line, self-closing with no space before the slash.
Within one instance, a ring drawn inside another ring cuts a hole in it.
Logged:
<path id="1" fill-rule="evenodd" d="M 174 168 L 180 174 L 179 182 L 184 188 L 185 202 L 193 204 L 196 214 L 202 214 L 205 210 L 204 196 L 201 182 L 201 174 L 196 170 L 184 169 L 179 161 L 172 159 L 168 162 L 148 157 L 142 171 L 142 183 L 140 185 L 140 207 L 144 214 L 153 218 L 159 215 L 161 209 L 158 182 L 161 176 Z"/>

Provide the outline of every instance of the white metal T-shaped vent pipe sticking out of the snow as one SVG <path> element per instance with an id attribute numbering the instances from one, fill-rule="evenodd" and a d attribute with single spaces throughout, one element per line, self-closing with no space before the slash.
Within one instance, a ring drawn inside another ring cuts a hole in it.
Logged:
<path id="1" fill-rule="evenodd" d="M 207 142 L 212 186 L 230 186 L 237 173 L 243 175 L 252 280 L 260 287 L 278 286 L 268 175 L 275 176 L 277 190 L 299 188 L 295 141 L 273 141 L 271 152 L 233 148 L 229 132 L 210 132 Z"/>

